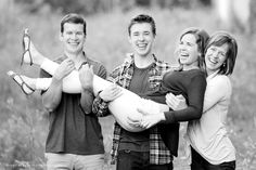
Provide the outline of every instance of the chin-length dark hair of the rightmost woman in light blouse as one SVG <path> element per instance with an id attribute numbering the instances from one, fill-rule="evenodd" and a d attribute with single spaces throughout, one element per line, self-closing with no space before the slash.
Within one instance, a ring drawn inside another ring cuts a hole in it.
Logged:
<path id="1" fill-rule="evenodd" d="M 238 43 L 236 40 L 226 31 L 217 31 L 210 36 L 208 43 L 205 48 L 205 53 L 212 45 L 221 47 L 228 44 L 228 51 L 226 53 L 225 64 L 220 67 L 219 74 L 231 75 L 233 73 L 236 55 L 238 55 Z"/>

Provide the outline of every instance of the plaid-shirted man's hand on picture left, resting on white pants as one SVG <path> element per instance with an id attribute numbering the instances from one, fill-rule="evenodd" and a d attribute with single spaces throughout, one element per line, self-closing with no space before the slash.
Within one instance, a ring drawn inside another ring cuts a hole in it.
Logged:
<path id="1" fill-rule="evenodd" d="M 100 93 L 100 97 L 104 102 L 112 102 L 120 95 L 121 95 L 121 89 L 118 86 L 114 84 L 114 83 L 111 84 L 110 87 L 107 87 L 106 89 L 104 89 Z"/>

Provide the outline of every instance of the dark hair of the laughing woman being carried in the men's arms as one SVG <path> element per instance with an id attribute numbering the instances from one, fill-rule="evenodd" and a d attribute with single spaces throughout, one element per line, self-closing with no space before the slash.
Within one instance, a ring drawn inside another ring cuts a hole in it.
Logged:
<path id="1" fill-rule="evenodd" d="M 201 55 L 199 56 L 199 66 L 200 68 L 204 69 L 204 51 L 206 42 L 209 39 L 209 35 L 204 29 L 197 27 L 190 27 L 181 32 L 180 40 L 183 38 L 184 35 L 188 34 L 191 34 L 195 37 L 195 43 L 197 44 L 199 52 L 201 53 Z"/>

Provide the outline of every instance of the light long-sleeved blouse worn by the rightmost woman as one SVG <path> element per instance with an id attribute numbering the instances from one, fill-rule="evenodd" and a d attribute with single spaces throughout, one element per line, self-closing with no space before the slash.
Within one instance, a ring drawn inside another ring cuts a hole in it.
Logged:
<path id="1" fill-rule="evenodd" d="M 235 160 L 235 148 L 226 130 L 231 93 L 232 87 L 228 76 L 217 73 L 209 75 L 204 113 L 201 119 L 188 125 L 187 138 L 190 145 L 213 165 Z"/>

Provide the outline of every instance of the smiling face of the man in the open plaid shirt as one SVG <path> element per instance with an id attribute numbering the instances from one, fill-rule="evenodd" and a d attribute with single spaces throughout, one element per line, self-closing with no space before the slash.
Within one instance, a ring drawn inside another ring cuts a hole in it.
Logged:
<path id="1" fill-rule="evenodd" d="M 137 23 L 130 28 L 129 42 L 135 55 L 145 57 L 151 53 L 154 42 L 152 26 L 149 23 Z"/>

